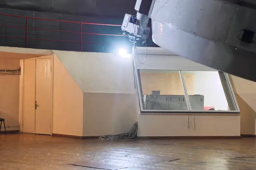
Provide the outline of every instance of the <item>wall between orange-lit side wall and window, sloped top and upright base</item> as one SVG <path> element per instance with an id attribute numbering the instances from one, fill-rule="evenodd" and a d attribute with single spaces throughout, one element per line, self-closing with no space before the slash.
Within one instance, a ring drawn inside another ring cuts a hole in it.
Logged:
<path id="1" fill-rule="evenodd" d="M 133 59 L 109 53 L 54 51 L 83 94 L 83 136 L 125 133 L 137 121 Z"/>

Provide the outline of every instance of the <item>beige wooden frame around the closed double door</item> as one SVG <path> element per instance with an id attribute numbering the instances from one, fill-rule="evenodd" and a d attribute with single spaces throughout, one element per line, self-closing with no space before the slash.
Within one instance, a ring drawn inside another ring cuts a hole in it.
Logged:
<path id="1" fill-rule="evenodd" d="M 52 86 L 52 98 L 51 98 L 51 103 L 52 103 L 52 107 L 51 107 L 51 120 L 50 120 L 50 135 L 52 136 L 52 130 L 53 130 L 53 57 L 54 55 L 48 55 L 48 56 L 42 56 L 42 57 L 36 57 L 36 58 L 30 58 L 30 59 L 51 59 L 52 64 L 51 64 L 51 72 L 52 72 L 52 79 L 51 79 L 51 86 Z M 36 64 L 36 62 L 35 62 Z M 20 60 L 20 67 L 21 67 L 21 71 L 20 71 L 20 132 L 23 132 L 23 127 L 24 127 L 24 59 Z M 35 70 L 36 71 L 36 70 Z"/>

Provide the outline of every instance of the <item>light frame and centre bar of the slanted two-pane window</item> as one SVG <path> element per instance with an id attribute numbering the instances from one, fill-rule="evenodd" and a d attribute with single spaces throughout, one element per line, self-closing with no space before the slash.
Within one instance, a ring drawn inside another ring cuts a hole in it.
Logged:
<path id="1" fill-rule="evenodd" d="M 233 102 L 233 106 L 235 107 L 236 111 L 202 111 L 202 110 L 191 110 L 191 105 L 190 105 L 190 101 L 189 101 L 189 95 L 186 89 L 186 83 L 183 77 L 183 74 L 181 71 L 183 70 L 178 70 L 179 74 L 180 74 L 180 80 L 182 82 L 182 86 L 183 86 L 183 92 L 184 92 L 184 96 L 185 96 L 185 100 L 186 100 L 186 105 L 188 110 L 146 110 L 145 106 L 143 105 L 144 100 L 143 100 L 143 89 L 142 89 L 142 84 L 141 84 L 141 79 L 140 79 L 140 70 L 152 70 L 152 69 L 137 69 L 136 65 L 134 67 L 135 69 L 135 77 L 136 77 L 136 81 L 137 81 L 137 90 L 138 90 L 138 96 L 139 96 L 139 102 L 140 102 L 140 112 L 141 113 L 240 113 L 239 110 L 239 106 L 238 103 L 236 101 L 236 97 L 230 82 L 230 78 L 228 76 L 227 73 L 218 71 L 219 75 L 223 74 L 224 75 L 224 79 L 222 79 L 223 77 L 221 77 L 221 75 L 219 76 L 223 85 L 223 81 L 226 82 L 227 85 L 227 90 L 230 96 L 230 99 Z M 177 70 L 169 70 L 169 71 L 177 71 Z M 200 70 L 195 70 L 195 71 L 200 71 Z M 224 88 L 223 88 L 224 89 Z M 225 92 L 225 89 L 224 89 Z M 226 94 L 226 93 L 225 93 Z M 226 94 L 227 95 L 227 94 Z M 227 98 L 227 96 L 226 96 Z M 228 99 L 227 99 L 228 100 Z M 228 101 L 227 101 L 228 102 Z"/>

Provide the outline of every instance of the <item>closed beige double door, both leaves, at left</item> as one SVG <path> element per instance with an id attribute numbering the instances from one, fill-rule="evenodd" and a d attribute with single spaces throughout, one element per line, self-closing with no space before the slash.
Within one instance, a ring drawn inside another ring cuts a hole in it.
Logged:
<path id="1" fill-rule="evenodd" d="M 25 133 L 51 134 L 51 65 L 51 59 L 24 60 L 23 132 Z"/>

